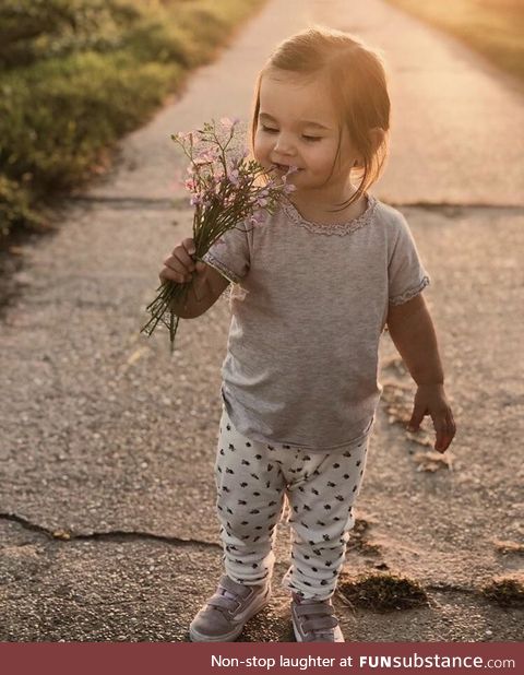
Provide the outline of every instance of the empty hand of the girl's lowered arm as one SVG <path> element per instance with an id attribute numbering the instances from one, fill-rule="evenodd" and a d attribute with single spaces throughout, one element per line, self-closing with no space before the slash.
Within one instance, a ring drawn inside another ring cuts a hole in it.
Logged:
<path id="1" fill-rule="evenodd" d="M 455 421 L 444 393 L 443 384 L 419 384 L 415 394 L 412 418 L 407 430 L 417 431 L 425 415 L 433 421 L 437 433 L 434 449 L 445 452 L 456 433 Z"/>

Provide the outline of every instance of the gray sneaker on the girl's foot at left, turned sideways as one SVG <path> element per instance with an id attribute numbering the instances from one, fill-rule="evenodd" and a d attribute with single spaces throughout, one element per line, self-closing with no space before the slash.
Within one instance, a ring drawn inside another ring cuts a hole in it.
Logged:
<path id="1" fill-rule="evenodd" d="M 192 642 L 234 642 L 246 623 L 267 604 L 271 585 L 245 585 L 227 575 L 189 627 Z"/>

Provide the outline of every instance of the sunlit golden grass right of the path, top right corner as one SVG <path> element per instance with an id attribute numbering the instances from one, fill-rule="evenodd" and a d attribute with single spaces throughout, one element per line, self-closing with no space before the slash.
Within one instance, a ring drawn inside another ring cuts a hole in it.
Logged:
<path id="1" fill-rule="evenodd" d="M 524 81 L 522 0 L 388 0 L 451 33 L 505 72 Z"/>

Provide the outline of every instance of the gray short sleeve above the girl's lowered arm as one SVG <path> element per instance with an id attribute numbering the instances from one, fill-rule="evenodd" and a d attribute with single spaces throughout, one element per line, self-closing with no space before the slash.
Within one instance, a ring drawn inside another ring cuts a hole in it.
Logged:
<path id="1" fill-rule="evenodd" d="M 418 295 L 431 283 L 420 261 L 415 239 L 402 214 L 397 236 L 388 264 L 389 300 L 402 305 Z"/>

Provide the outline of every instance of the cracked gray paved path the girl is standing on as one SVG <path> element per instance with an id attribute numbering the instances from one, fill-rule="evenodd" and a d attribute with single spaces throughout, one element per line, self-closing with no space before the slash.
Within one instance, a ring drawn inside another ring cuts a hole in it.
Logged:
<path id="1" fill-rule="evenodd" d="M 452 471 L 425 471 L 427 448 L 402 424 L 413 382 L 384 338 L 384 394 L 341 591 L 357 571 L 398 572 L 429 605 L 376 614 L 341 593 L 345 632 L 522 639 L 522 613 L 479 592 L 522 575 L 522 92 L 378 0 L 272 0 L 126 139 L 115 170 L 66 204 L 55 236 L 23 247 L 0 318 L 0 640 L 184 640 L 213 590 L 227 303 L 181 324 L 174 357 L 165 333 L 139 335 L 159 261 L 190 232 L 190 212 L 171 205 L 169 134 L 246 117 L 271 48 L 311 22 L 361 35 L 390 64 L 392 154 L 373 192 L 406 214 L 432 275 L 426 297 L 458 423 Z M 282 526 L 277 579 L 287 535 Z M 287 602 L 276 580 L 242 639 L 291 639 Z"/>

